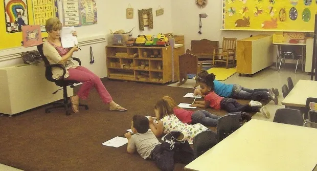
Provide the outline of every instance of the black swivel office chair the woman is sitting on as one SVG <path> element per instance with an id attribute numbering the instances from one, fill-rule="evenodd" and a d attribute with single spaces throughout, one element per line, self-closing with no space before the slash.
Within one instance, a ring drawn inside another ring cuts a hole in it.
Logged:
<path id="1" fill-rule="evenodd" d="M 70 109 L 71 109 L 71 103 L 68 101 L 68 96 L 67 96 L 67 86 L 71 86 L 71 88 L 74 88 L 74 84 L 75 83 L 79 83 L 77 81 L 70 81 L 70 80 L 65 80 L 64 75 L 66 74 L 66 69 L 63 65 L 61 64 L 50 64 L 49 60 L 46 58 L 46 56 L 44 56 L 43 54 L 43 44 L 38 45 L 37 46 L 37 50 L 39 51 L 39 53 L 41 54 L 41 57 L 44 61 L 45 64 L 45 77 L 47 80 L 54 82 L 57 86 L 62 87 L 59 90 L 63 90 L 63 102 L 53 102 L 53 106 L 50 108 L 45 109 L 45 113 L 50 113 L 51 110 L 53 109 L 60 109 L 60 108 L 64 108 L 66 111 L 66 115 L 71 115 L 70 113 Z M 74 60 L 77 60 L 79 65 L 81 65 L 81 61 L 78 58 L 72 57 Z M 61 76 L 61 79 L 54 79 L 52 77 L 52 68 L 53 67 L 58 67 L 61 68 L 64 72 L 63 75 Z M 53 92 L 52 94 L 56 94 L 57 91 Z M 85 107 L 85 110 L 88 110 L 88 105 L 85 104 L 79 104 L 79 106 L 83 106 Z"/>

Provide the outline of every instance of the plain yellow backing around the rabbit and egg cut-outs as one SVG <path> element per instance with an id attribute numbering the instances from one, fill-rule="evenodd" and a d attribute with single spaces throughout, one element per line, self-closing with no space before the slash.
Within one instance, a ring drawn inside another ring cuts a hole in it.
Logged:
<path id="1" fill-rule="evenodd" d="M 314 17 L 317 11 L 317 4 L 315 0 L 312 0 L 311 5 L 306 6 L 304 0 L 273 0 L 276 3 L 273 5 L 269 0 L 223 0 L 224 6 L 224 25 L 222 29 L 225 30 L 260 30 L 260 31 L 302 31 L 313 32 L 314 30 Z M 292 5 L 290 2 L 295 1 L 297 5 Z M 309 0 L 308 0 L 309 1 Z M 245 3 L 245 4 L 244 4 Z M 269 7 L 273 6 L 274 16 L 270 16 Z M 250 27 L 236 27 L 235 23 L 238 19 L 243 19 L 242 8 L 248 7 L 248 11 L 244 16 L 250 17 Z M 262 14 L 255 16 L 256 8 L 262 9 Z M 289 10 L 291 7 L 295 7 L 298 11 L 298 17 L 296 20 L 289 18 Z M 235 13 L 232 14 L 230 9 L 235 9 Z M 281 22 L 279 19 L 279 12 L 282 8 L 286 11 L 286 20 Z M 303 11 L 305 8 L 310 10 L 309 22 L 304 22 L 302 19 Z M 230 16 L 232 15 L 232 16 Z M 265 20 L 270 21 L 271 18 L 277 18 L 277 28 L 262 28 L 262 24 Z"/>

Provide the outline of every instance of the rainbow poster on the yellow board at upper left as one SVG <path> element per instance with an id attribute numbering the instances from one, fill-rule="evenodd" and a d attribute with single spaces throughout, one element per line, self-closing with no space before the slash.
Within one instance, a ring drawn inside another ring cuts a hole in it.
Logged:
<path id="1" fill-rule="evenodd" d="M 7 33 L 21 32 L 22 26 L 29 25 L 27 0 L 5 0 Z"/>

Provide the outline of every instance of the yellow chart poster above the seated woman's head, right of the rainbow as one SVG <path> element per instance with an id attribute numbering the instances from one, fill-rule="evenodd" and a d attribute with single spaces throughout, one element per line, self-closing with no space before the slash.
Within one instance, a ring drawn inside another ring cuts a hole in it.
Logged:
<path id="1" fill-rule="evenodd" d="M 46 20 L 58 17 L 57 0 L 32 0 L 32 5 L 34 24 L 40 25 L 41 32 L 44 32 Z"/>

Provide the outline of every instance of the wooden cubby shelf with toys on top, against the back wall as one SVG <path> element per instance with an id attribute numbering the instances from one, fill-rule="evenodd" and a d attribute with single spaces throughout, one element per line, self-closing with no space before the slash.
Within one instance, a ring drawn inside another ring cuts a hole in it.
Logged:
<path id="1" fill-rule="evenodd" d="M 167 47 L 106 46 L 110 79 L 166 83 L 172 81 L 172 50 Z"/>

